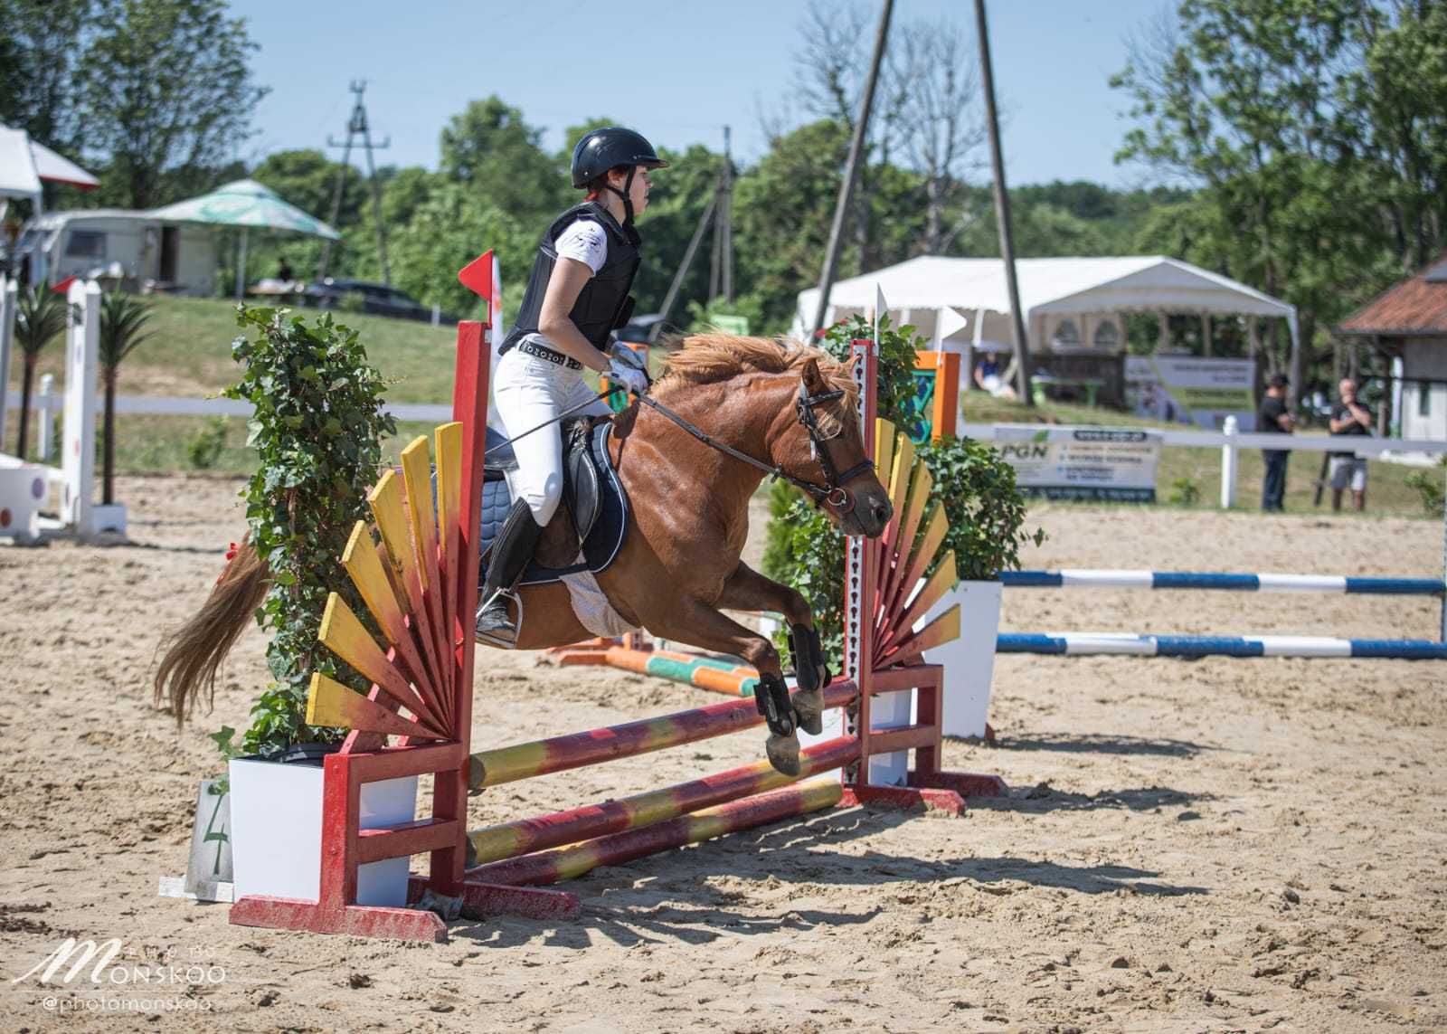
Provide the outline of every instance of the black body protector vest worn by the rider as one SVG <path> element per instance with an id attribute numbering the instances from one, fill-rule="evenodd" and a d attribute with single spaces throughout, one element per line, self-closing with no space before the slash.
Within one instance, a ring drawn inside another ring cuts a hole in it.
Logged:
<path id="1" fill-rule="evenodd" d="M 543 297 L 547 294 L 548 279 L 553 278 L 553 266 L 557 265 L 557 251 L 554 245 L 559 236 L 569 226 L 580 219 L 590 219 L 601 223 L 608 233 L 608 258 L 603 268 L 593 274 L 573 303 L 569 317 L 599 352 L 608 350 L 608 336 L 615 329 L 628 323 L 632 316 L 634 300 L 628 295 L 634 275 L 638 272 L 638 245 L 641 238 L 632 226 L 619 226 L 618 220 L 603 206 L 596 201 L 583 201 L 564 211 L 553 220 L 538 243 L 538 256 L 532 262 L 532 274 L 528 277 L 528 290 L 522 295 L 522 307 L 518 310 L 518 320 L 512 332 L 498 353 L 508 352 L 527 335 L 538 333 L 538 317 L 543 313 Z"/>

